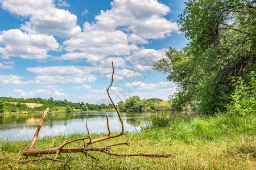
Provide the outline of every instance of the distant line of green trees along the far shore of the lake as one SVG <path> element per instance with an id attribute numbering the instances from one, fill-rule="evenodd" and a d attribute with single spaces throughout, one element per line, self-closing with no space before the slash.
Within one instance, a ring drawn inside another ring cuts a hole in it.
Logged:
<path id="1" fill-rule="evenodd" d="M 138 96 L 133 96 L 127 99 L 125 102 L 119 101 L 118 107 L 120 111 L 156 111 L 160 110 L 160 101 L 162 99 L 140 99 Z M 15 102 L 9 103 L 9 102 Z M 41 107 L 30 108 L 26 104 L 22 103 L 38 103 L 43 104 Z M 65 100 L 54 100 L 52 97 L 49 99 L 37 98 L 13 98 L 13 97 L 0 97 L 0 113 L 2 112 L 36 112 L 44 111 L 47 107 L 51 111 L 57 111 L 56 107 L 65 107 L 66 112 L 72 112 L 74 109 L 81 109 L 82 111 L 101 111 L 107 109 L 114 109 L 113 104 L 89 104 L 89 103 L 72 103 L 71 101 Z"/>

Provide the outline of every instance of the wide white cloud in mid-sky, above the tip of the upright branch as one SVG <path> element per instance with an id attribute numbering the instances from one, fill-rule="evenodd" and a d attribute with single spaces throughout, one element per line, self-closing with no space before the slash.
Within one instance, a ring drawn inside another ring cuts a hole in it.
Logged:
<path id="1" fill-rule="evenodd" d="M 71 37 L 63 42 L 65 50 L 68 52 L 86 52 L 94 55 L 130 55 L 131 51 L 138 50 L 138 46 L 129 44 L 126 33 L 119 30 L 97 30 L 89 23 L 86 23 L 84 32 L 79 35 Z"/>

